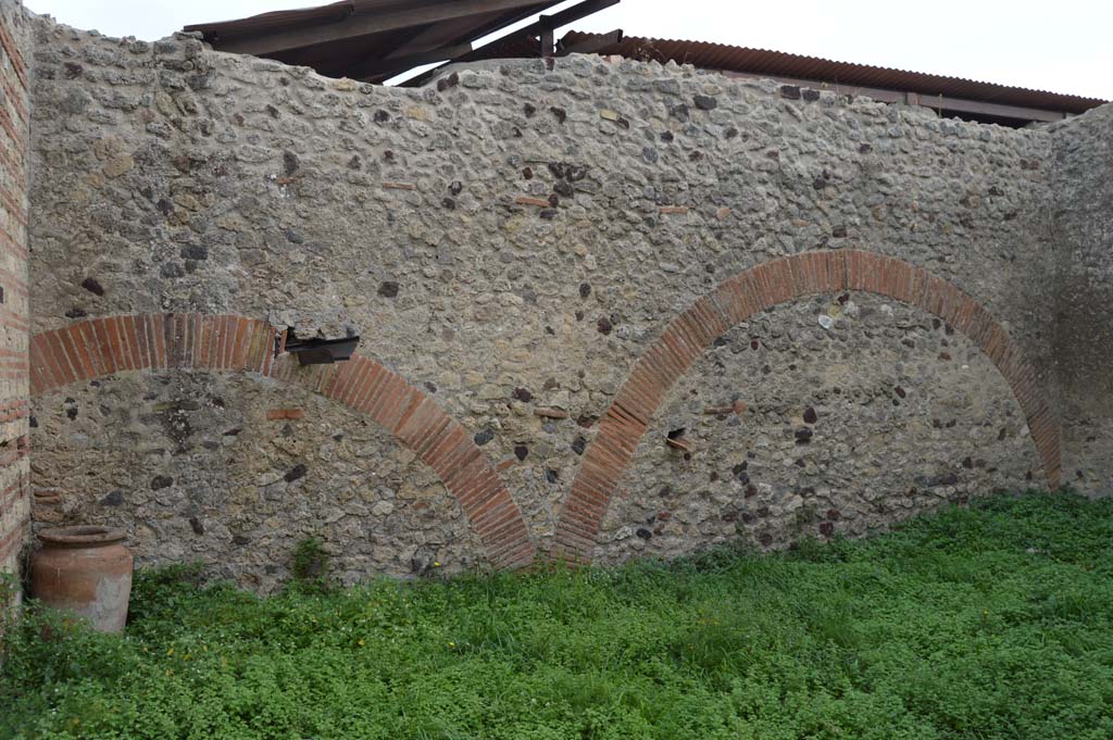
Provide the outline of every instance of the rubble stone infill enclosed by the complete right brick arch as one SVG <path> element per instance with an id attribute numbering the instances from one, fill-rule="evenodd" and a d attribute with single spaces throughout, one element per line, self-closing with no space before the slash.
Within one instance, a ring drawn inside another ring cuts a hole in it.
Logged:
<path id="1" fill-rule="evenodd" d="M 919 309 L 847 295 L 756 315 L 697 361 L 642 437 L 595 560 L 861 535 L 1032 485 L 1040 457 L 1024 414 L 981 348 Z M 815 317 L 836 306 L 820 328 Z M 732 397 L 745 417 L 705 413 Z M 678 427 L 683 457 L 657 442 Z"/>

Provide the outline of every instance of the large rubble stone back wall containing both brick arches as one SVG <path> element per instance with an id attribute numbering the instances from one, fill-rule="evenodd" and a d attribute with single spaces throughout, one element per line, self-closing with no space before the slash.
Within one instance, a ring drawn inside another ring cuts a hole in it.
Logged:
<path id="1" fill-rule="evenodd" d="M 39 522 L 265 591 L 311 534 L 354 581 L 1057 485 L 1047 129 L 595 57 L 397 89 L 37 30 Z M 273 356 L 352 334 L 352 363 Z"/>

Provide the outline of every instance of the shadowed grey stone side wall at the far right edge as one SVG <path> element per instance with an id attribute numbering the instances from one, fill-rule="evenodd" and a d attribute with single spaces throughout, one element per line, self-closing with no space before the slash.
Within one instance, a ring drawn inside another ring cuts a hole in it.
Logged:
<path id="1" fill-rule="evenodd" d="M 1113 491 L 1113 106 L 1053 129 L 1064 481 Z"/>

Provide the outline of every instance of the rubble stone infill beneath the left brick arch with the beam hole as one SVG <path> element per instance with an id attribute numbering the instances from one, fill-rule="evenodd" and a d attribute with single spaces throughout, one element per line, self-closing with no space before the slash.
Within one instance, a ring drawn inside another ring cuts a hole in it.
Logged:
<path id="1" fill-rule="evenodd" d="M 140 564 L 203 560 L 215 576 L 270 592 L 289 578 L 297 542 L 319 536 L 345 583 L 414 578 L 415 562 L 485 566 L 460 505 L 414 453 L 299 388 L 170 371 L 38 403 L 36 491 L 57 493 L 37 520 L 122 526 Z M 275 423 L 274 406 L 308 413 Z"/>

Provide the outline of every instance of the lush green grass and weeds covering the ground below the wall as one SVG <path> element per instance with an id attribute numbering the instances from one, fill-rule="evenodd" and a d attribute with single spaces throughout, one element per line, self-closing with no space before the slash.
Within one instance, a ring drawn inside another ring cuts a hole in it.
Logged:
<path id="1" fill-rule="evenodd" d="M 142 572 L 122 637 L 9 628 L 0 738 L 1109 739 L 1111 542 L 1113 501 L 1027 494 L 780 555 L 266 600 Z"/>

